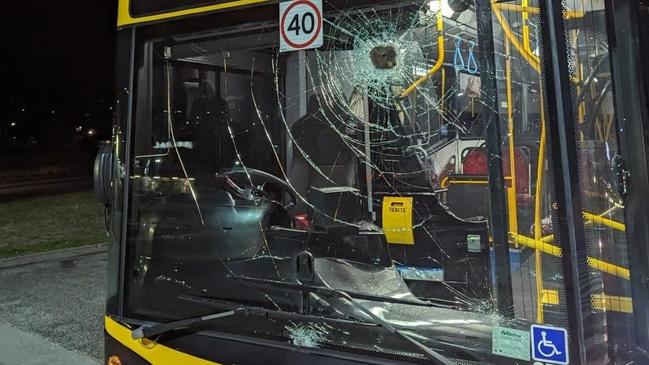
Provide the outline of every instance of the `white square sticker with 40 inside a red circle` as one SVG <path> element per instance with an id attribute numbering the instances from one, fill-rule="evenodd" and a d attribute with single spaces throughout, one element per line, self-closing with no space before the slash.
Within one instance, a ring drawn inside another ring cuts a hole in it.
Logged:
<path id="1" fill-rule="evenodd" d="M 279 4 L 280 51 L 322 46 L 322 0 L 291 0 Z"/>

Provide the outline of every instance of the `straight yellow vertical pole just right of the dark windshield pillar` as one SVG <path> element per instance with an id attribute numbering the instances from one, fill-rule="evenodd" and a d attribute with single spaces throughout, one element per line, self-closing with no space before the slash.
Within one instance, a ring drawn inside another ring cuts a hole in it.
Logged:
<path id="1" fill-rule="evenodd" d="M 512 96 L 512 60 L 509 40 L 505 40 L 505 78 L 507 82 L 507 129 L 509 134 L 509 175 L 511 187 L 507 189 L 509 230 L 518 234 L 518 204 L 516 197 L 516 146 L 514 141 L 514 98 Z M 518 247 L 518 244 L 516 244 Z"/>

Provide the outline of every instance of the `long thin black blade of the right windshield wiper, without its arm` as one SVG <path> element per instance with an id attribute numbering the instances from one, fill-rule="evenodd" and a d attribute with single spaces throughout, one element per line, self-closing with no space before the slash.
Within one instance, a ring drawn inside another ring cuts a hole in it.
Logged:
<path id="1" fill-rule="evenodd" d="M 337 296 L 337 294 L 339 292 L 341 292 L 341 290 L 339 290 L 339 289 L 327 288 L 327 287 L 324 287 L 324 286 L 293 283 L 293 282 L 289 282 L 289 281 L 278 281 L 278 280 L 271 280 L 271 279 L 264 279 L 264 278 L 254 278 L 254 277 L 249 277 L 249 276 L 231 276 L 231 277 L 234 278 L 234 279 L 239 279 L 239 280 L 246 281 L 246 282 L 249 282 L 249 283 L 252 283 L 252 284 L 271 286 L 271 287 L 280 288 L 280 289 L 308 292 L 308 293 L 320 294 L 320 295 L 325 295 L 325 296 L 331 296 L 331 295 L 336 295 Z M 369 301 L 392 303 L 392 304 L 408 304 L 408 305 L 415 305 L 415 306 L 420 306 L 420 307 L 437 307 L 433 303 L 425 302 L 425 301 L 421 301 L 421 300 L 393 298 L 393 297 L 386 297 L 386 296 L 382 296 L 382 295 L 372 295 L 372 294 L 365 294 L 365 293 L 358 293 L 358 292 L 351 292 L 351 291 L 344 291 L 344 292 L 347 295 L 349 295 L 350 297 L 352 297 L 352 298 L 361 299 L 361 300 L 369 300 Z"/>

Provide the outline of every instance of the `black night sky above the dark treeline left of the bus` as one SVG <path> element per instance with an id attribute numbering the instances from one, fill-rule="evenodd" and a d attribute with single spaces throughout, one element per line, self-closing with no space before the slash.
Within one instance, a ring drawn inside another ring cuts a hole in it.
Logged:
<path id="1" fill-rule="evenodd" d="M 107 136 L 116 8 L 115 0 L 0 2 L 0 138 L 4 127 L 5 139 L 18 131 L 53 145 L 77 125 Z"/>

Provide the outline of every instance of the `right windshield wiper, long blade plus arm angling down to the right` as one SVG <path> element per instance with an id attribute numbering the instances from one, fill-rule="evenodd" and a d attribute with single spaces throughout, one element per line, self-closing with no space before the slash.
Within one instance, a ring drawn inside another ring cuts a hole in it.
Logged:
<path id="1" fill-rule="evenodd" d="M 347 302 L 349 302 L 358 311 L 362 312 L 363 314 L 371 318 L 374 324 L 387 329 L 389 332 L 403 338 L 407 342 L 410 342 L 412 345 L 416 346 L 426 357 L 434 361 L 436 364 L 455 365 L 455 362 L 452 362 L 446 356 L 440 354 L 439 352 L 419 342 L 408 332 L 397 329 L 396 327 L 392 326 L 390 323 L 386 322 L 382 318 L 372 313 L 372 311 L 365 308 L 362 304 L 358 303 L 357 299 L 355 299 L 354 297 L 362 300 L 384 301 L 387 303 L 411 304 L 411 305 L 420 305 L 420 306 L 427 306 L 427 307 L 433 306 L 431 303 L 397 299 L 391 297 L 375 296 L 375 295 L 363 294 L 363 293 L 353 293 L 353 292 L 350 293 L 340 289 L 326 288 L 326 287 L 313 286 L 313 285 L 304 285 L 300 283 L 291 283 L 291 282 L 276 281 L 270 279 L 251 278 L 245 276 L 235 276 L 235 278 L 247 282 L 251 282 L 251 283 L 257 283 L 260 285 L 283 288 L 288 290 L 296 290 L 296 291 L 319 294 L 319 295 L 329 296 L 329 297 L 333 296 L 338 299 L 344 299 Z"/>

